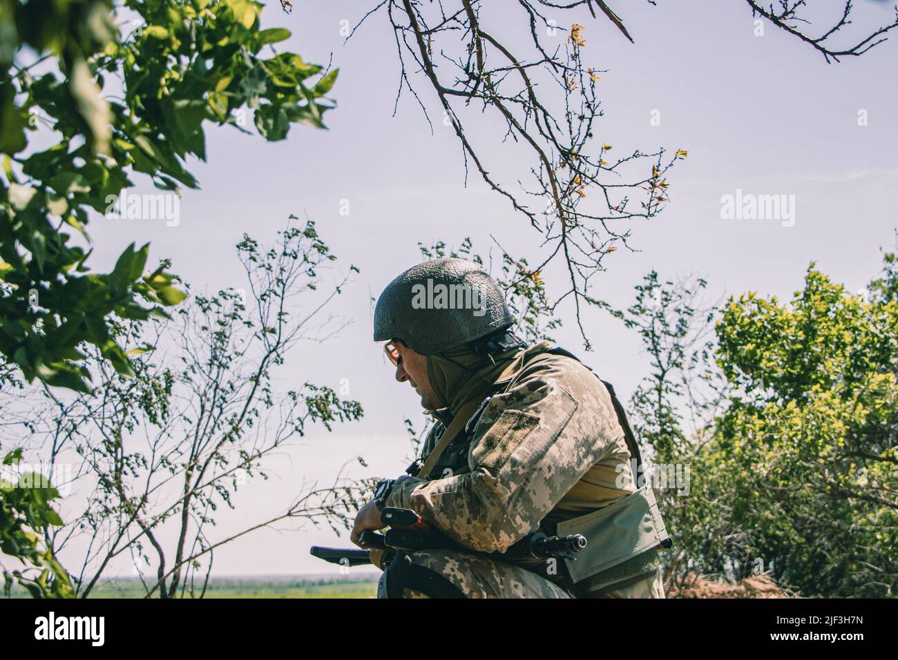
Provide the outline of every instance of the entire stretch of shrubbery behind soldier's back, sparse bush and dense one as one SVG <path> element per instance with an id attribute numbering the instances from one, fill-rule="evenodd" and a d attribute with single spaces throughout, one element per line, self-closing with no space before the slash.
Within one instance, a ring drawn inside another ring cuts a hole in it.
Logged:
<path id="1" fill-rule="evenodd" d="M 659 497 L 669 580 L 766 572 L 804 595 L 895 594 L 894 262 L 885 255 L 867 295 L 812 264 L 786 303 L 731 298 L 708 342 L 690 339 L 710 326 L 672 283 L 658 294 L 653 273 L 637 287 L 625 318 L 654 366 L 633 399 L 637 426 L 656 462 L 691 471 L 685 497 Z"/>

